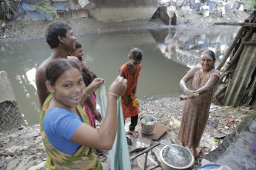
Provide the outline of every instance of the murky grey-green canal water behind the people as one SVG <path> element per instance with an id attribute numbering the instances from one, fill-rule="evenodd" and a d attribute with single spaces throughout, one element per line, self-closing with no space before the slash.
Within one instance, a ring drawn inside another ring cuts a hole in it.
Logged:
<path id="1" fill-rule="evenodd" d="M 207 48 L 217 63 L 231 45 L 238 28 L 162 28 L 107 32 L 79 36 L 89 68 L 106 81 L 106 88 L 128 62 L 130 48 L 143 51 L 137 96 L 140 100 L 178 97 L 179 82 L 190 67 L 198 65 Z M 6 71 L 19 104 L 24 125 L 39 123 L 39 99 L 35 87 L 36 68 L 51 55 L 44 39 L 12 42 L 0 46 L 0 71 Z M 96 92 L 98 95 L 98 92 Z"/>

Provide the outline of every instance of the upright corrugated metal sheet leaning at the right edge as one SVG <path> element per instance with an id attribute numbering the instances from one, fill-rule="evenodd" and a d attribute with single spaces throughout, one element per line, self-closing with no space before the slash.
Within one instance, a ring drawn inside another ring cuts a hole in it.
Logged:
<path id="1" fill-rule="evenodd" d="M 253 34 L 251 42 L 256 42 L 256 33 Z M 245 45 L 241 52 L 239 61 L 227 85 L 224 97 L 224 105 L 233 107 L 248 103 L 249 92 L 255 81 L 256 48 L 255 45 Z M 255 92 L 255 91 L 254 91 Z M 254 94 L 255 96 L 256 94 Z"/>

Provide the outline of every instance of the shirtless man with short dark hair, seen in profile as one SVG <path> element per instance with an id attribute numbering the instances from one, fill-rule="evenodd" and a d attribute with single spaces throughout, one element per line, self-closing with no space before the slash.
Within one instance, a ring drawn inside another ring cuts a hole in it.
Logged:
<path id="1" fill-rule="evenodd" d="M 35 84 L 37 87 L 37 94 L 39 95 L 40 108 L 42 108 L 45 98 L 48 97 L 50 92 L 47 90 L 45 82 L 45 70 L 50 62 L 56 58 L 69 58 L 72 59 L 77 65 L 80 65 L 79 59 L 76 57 L 68 57 L 70 51 L 75 50 L 76 37 L 73 35 L 72 28 L 66 23 L 62 22 L 52 22 L 45 32 L 46 42 L 52 48 L 52 55 L 49 58 L 45 59 L 39 68 L 36 69 L 35 73 Z M 96 81 L 103 82 L 103 79 L 99 78 Z M 83 94 L 84 95 L 84 94 Z M 82 96 L 83 98 L 83 96 Z M 91 98 L 87 98 L 86 102 L 93 103 Z M 93 114 L 95 115 L 96 120 L 101 121 L 100 113 L 93 106 Z M 89 105 L 90 107 L 90 105 Z"/>

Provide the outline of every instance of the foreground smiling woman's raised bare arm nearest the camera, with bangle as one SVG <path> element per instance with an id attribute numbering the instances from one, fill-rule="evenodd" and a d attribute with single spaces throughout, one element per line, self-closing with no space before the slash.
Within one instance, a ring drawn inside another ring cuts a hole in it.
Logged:
<path id="1" fill-rule="evenodd" d="M 116 95 L 123 95 L 126 92 L 127 81 L 123 78 L 116 78 L 109 87 L 109 92 Z M 101 150 L 109 150 L 113 146 L 117 129 L 117 97 L 108 95 L 106 117 L 99 129 L 92 128 L 83 123 L 77 128 L 70 140 L 80 145 L 86 145 Z"/>

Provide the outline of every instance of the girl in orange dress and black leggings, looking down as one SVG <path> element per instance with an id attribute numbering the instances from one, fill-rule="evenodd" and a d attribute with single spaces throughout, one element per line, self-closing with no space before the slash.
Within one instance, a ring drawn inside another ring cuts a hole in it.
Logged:
<path id="1" fill-rule="evenodd" d="M 129 132 L 135 138 L 139 137 L 139 133 L 135 131 L 140 113 L 138 99 L 136 98 L 137 81 L 141 69 L 142 52 L 139 48 L 132 48 L 128 55 L 129 62 L 122 65 L 119 75 L 127 79 L 126 93 L 122 96 L 123 119 L 131 118 Z"/>

